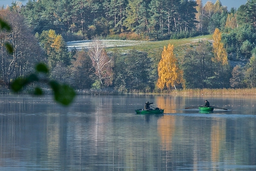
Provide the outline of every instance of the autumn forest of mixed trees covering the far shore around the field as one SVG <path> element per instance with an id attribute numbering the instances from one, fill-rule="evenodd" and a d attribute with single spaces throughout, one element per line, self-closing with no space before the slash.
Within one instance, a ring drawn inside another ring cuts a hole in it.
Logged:
<path id="1" fill-rule="evenodd" d="M 47 64 L 49 78 L 77 91 L 121 93 L 256 87 L 256 0 L 227 10 L 220 0 L 29 0 L 0 9 L 0 86 Z M 159 42 L 212 35 L 183 49 L 104 48 L 100 39 Z M 88 49 L 66 42 L 93 40 Z M 6 50 L 10 42 L 13 52 Z M 178 53 L 179 52 L 179 53 Z M 182 52 L 182 53 L 181 53 Z M 36 86 L 31 83 L 30 86 Z M 44 86 L 44 85 L 41 85 Z M 26 87 L 29 89 L 29 87 Z"/>

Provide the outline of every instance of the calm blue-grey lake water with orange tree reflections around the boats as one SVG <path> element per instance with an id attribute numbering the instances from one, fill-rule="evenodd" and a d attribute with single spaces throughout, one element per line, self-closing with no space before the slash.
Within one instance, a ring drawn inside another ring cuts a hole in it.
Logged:
<path id="1" fill-rule="evenodd" d="M 208 100 L 212 113 L 197 108 Z M 164 114 L 135 114 L 146 101 Z M 0 96 L 0 171 L 256 171 L 256 96 Z"/>

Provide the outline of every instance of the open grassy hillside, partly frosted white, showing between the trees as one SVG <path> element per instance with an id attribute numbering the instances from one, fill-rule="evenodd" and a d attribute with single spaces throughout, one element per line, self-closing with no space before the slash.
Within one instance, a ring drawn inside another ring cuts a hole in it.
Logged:
<path id="1" fill-rule="evenodd" d="M 171 39 L 171 40 L 163 40 L 163 41 L 133 41 L 133 40 L 100 40 L 102 45 L 107 49 L 108 52 L 111 52 L 113 48 L 118 48 L 120 51 L 127 52 L 135 48 L 138 51 L 145 51 L 149 53 L 157 53 L 158 51 L 162 51 L 164 46 L 167 46 L 169 43 L 173 44 L 175 47 L 175 53 L 178 57 L 183 57 L 188 48 L 191 48 L 193 44 L 198 41 L 210 41 L 212 42 L 212 34 L 197 36 L 193 38 L 184 38 L 184 39 Z M 77 50 L 89 49 L 90 43 L 92 40 L 80 40 L 80 41 L 70 41 L 67 42 L 67 47 L 69 50 L 75 48 Z M 230 58 L 230 57 L 229 57 Z M 236 65 L 244 66 L 247 63 L 247 60 L 239 59 L 239 60 L 230 60 L 229 64 L 231 67 Z"/>

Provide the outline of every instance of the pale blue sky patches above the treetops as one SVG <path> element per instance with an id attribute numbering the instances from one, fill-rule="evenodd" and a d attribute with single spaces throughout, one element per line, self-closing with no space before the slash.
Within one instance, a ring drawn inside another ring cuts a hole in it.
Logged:
<path id="1" fill-rule="evenodd" d="M 15 1 L 21 1 L 23 5 L 25 5 L 28 0 L 0 0 L 0 6 L 6 7 L 6 5 L 11 5 L 11 2 Z M 203 5 L 207 2 L 208 0 L 202 0 Z M 212 1 L 213 3 L 216 2 L 216 0 L 209 0 Z M 227 6 L 227 9 L 230 10 L 230 8 L 235 7 L 238 9 L 238 7 L 242 4 L 245 4 L 247 0 L 221 0 L 223 6 Z"/>

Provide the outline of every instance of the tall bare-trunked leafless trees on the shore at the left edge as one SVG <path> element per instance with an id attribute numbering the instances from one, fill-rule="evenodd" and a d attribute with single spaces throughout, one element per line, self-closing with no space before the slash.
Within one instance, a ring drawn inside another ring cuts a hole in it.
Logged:
<path id="1" fill-rule="evenodd" d="M 12 79 L 29 73 L 33 70 L 34 63 L 44 58 L 21 15 L 8 9 L 1 9 L 0 17 L 3 21 L 8 21 L 11 27 L 9 31 L 0 30 L 0 84 L 10 86 Z M 9 42 L 11 47 L 9 53 L 5 46 L 6 42 Z"/>

